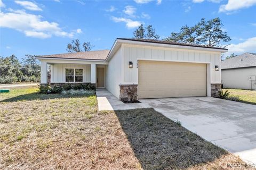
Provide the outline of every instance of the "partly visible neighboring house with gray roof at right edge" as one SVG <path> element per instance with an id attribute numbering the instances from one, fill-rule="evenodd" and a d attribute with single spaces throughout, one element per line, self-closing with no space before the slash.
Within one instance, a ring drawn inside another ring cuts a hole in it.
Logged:
<path id="1" fill-rule="evenodd" d="M 221 62 L 224 88 L 256 90 L 256 53 L 244 53 Z"/>

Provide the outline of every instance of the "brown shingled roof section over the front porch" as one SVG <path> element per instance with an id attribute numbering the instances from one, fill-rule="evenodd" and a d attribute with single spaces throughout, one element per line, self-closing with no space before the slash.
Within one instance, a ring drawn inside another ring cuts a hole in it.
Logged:
<path id="1" fill-rule="evenodd" d="M 108 56 L 109 50 L 95 50 L 90 52 L 78 52 L 78 53 L 64 53 L 37 56 L 37 58 L 63 58 L 63 59 L 78 59 L 78 60 L 102 60 L 105 61 Z"/>

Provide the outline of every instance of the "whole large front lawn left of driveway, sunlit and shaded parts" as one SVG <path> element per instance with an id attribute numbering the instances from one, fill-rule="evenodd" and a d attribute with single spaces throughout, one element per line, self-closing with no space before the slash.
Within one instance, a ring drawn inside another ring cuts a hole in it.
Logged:
<path id="1" fill-rule="evenodd" d="M 98 112 L 95 96 L 41 95 L 35 87 L 0 94 L 0 106 L 0 169 L 194 170 L 243 163 L 151 108 Z"/>

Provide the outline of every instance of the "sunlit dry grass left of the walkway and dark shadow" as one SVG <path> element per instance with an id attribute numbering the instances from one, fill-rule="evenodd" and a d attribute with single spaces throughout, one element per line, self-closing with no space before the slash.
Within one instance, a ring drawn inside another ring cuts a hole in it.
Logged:
<path id="1" fill-rule="evenodd" d="M 95 96 L 47 99 L 35 91 L 1 94 L 0 169 L 140 167 L 115 114 L 99 113 Z"/>

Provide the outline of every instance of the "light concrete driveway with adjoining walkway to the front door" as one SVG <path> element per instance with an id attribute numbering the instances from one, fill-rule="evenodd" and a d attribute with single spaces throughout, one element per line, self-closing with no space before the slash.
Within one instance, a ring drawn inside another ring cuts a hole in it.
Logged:
<path id="1" fill-rule="evenodd" d="M 157 112 L 256 164 L 256 105 L 212 97 L 143 99 L 139 104 L 124 104 L 106 89 L 97 89 L 99 110 L 152 107 Z"/>

